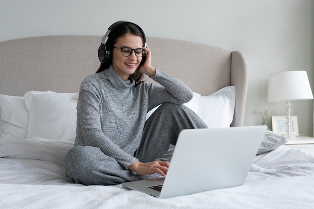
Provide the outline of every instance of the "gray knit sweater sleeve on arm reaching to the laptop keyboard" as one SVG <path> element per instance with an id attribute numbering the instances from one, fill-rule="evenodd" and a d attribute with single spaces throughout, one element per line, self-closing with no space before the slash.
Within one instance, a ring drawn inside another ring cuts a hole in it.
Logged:
<path id="1" fill-rule="evenodd" d="M 99 113 L 99 105 L 101 97 L 88 88 L 81 88 L 77 106 L 77 137 L 76 145 L 86 145 L 99 147 L 100 150 L 115 158 L 123 167 L 137 161 L 130 154 L 124 152 L 112 140 L 103 134 L 101 129 L 101 116 Z"/>

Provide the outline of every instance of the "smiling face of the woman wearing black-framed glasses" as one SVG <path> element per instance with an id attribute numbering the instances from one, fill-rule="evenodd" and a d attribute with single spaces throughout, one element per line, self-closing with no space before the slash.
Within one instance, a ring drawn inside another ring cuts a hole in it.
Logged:
<path id="1" fill-rule="evenodd" d="M 113 47 L 122 48 L 129 47 L 131 49 L 142 48 L 143 42 L 139 36 L 132 34 L 125 34 L 123 37 L 117 39 Z M 122 80 L 126 81 L 139 66 L 141 57 L 136 57 L 134 51 L 128 57 L 124 57 L 120 49 L 112 49 L 112 67 Z"/>

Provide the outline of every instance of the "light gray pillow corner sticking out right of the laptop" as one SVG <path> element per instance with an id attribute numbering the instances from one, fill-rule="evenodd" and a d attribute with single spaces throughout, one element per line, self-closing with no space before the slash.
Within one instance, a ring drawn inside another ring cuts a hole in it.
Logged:
<path id="1" fill-rule="evenodd" d="M 257 151 L 257 155 L 276 149 L 279 146 L 286 144 L 287 142 L 288 140 L 284 136 L 267 130 L 264 139 L 262 140 L 262 143 Z"/>

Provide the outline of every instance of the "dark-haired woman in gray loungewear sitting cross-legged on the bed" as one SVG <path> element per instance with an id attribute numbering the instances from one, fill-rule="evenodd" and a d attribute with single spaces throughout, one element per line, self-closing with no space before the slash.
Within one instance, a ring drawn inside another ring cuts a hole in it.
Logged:
<path id="1" fill-rule="evenodd" d="M 81 84 L 75 146 L 65 157 L 68 177 L 85 185 L 165 176 L 169 162 L 155 159 L 176 144 L 181 130 L 207 128 L 182 105 L 193 92 L 151 65 L 141 29 L 129 22 L 115 25 L 104 43 L 111 59 Z M 142 82 L 143 74 L 162 86 Z"/>

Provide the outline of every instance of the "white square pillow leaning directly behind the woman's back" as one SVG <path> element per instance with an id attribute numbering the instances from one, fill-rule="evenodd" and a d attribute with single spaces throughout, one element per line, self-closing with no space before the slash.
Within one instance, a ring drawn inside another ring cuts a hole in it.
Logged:
<path id="1" fill-rule="evenodd" d="M 76 137 L 76 93 L 27 92 L 30 114 L 27 138 L 74 141 Z"/>

